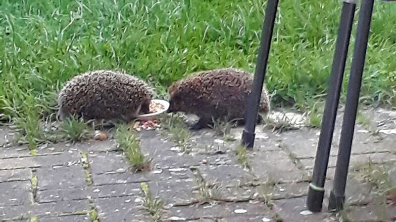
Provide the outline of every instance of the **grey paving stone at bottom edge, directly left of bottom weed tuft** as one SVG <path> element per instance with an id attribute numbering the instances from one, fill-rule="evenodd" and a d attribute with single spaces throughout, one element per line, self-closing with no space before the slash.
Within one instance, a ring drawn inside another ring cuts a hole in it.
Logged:
<path id="1" fill-rule="evenodd" d="M 141 199 L 134 196 L 95 199 L 100 222 L 150 221 L 137 200 Z"/>

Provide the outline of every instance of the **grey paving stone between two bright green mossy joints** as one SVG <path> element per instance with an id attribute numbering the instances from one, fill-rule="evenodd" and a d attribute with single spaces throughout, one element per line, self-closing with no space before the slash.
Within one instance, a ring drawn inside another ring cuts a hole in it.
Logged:
<path id="1" fill-rule="evenodd" d="M 87 185 L 82 166 L 39 168 L 36 171 L 36 175 L 40 190 L 83 187 Z"/>

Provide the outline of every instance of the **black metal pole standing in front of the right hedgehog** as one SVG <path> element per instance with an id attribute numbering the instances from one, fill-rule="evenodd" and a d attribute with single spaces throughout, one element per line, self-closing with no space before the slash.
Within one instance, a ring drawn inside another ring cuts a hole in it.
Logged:
<path id="1" fill-rule="evenodd" d="M 247 148 L 253 148 L 254 129 L 257 121 L 258 106 L 261 98 L 262 87 L 267 69 L 269 50 L 271 47 L 272 33 L 274 30 L 275 17 L 279 0 L 268 0 L 265 9 L 265 19 L 261 31 L 260 47 L 256 61 L 256 70 L 253 78 L 251 93 L 247 99 L 247 111 L 245 115 L 245 129 L 242 134 L 242 144 Z"/>

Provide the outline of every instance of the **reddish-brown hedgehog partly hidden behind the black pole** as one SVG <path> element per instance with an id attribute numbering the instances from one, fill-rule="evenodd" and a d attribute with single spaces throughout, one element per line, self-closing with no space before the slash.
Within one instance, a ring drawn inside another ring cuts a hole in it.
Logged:
<path id="1" fill-rule="evenodd" d="M 251 74 L 232 68 L 192 74 L 169 88 L 168 112 L 198 115 L 199 120 L 191 129 L 207 127 L 213 124 L 213 119 L 238 120 L 243 124 L 252 83 Z M 259 112 L 266 115 L 269 110 L 268 91 L 264 86 Z"/>

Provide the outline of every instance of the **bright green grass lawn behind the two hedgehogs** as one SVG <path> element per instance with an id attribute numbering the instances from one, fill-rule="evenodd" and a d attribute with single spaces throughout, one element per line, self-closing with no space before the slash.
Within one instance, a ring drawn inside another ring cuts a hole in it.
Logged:
<path id="1" fill-rule="evenodd" d="M 263 2 L 1 0 L 1 117 L 34 131 L 35 124 L 26 123 L 53 112 L 57 90 L 88 70 L 121 68 L 160 93 L 195 71 L 233 66 L 253 72 Z M 323 98 L 340 6 L 337 0 L 281 0 L 266 77 L 274 106 L 306 109 Z M 377 1 L 362 98 L 395 105 L 395 91 L 396 3 Z"/>

